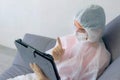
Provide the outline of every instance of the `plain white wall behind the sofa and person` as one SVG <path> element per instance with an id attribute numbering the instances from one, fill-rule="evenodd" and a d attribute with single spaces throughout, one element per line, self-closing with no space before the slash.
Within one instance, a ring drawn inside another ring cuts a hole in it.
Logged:
<path id="1" fill-rule="evenodd" d="M 0 44 L 15 48 L 14 40 L 25 33 L 71 33 L 74 15 L 93 3 L 103 6 L 107 22 L 120 13 L 120 0 L 0 0 Z"/>

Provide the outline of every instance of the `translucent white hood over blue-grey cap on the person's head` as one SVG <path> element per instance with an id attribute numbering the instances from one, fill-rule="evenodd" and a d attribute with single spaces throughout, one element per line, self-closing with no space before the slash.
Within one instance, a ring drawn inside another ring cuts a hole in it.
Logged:
<path id="1" fill-rule="evenodd" d="M 99 41 L 105 28 L 104 9 L 98 5 L 91 5 L 77 13 L 75 19 L 86 30 L 88 40 Z"/>

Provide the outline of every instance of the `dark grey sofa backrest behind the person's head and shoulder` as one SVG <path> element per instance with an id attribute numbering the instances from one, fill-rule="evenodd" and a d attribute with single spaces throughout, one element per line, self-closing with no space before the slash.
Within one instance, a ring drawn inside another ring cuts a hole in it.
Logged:
<path id="1" fill-rule="evenodd" d="M 120 15 L 106 25 L 103 41 L 112 55 L 112 61 L 120 56 Z"/>

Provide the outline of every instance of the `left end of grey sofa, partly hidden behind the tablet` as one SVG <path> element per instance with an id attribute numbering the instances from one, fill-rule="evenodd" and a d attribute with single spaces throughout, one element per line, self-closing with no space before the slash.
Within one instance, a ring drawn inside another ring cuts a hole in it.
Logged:
<path id="1" fill-rule="evenodd" d="M 43 52 L 52 48 L 56 42 L 55 39 L 34 34 L 25 34 L 23 41 Z M 32 70 L 26 67 L 26 64 L 20 56 L 20 53 L 17 52 L 13 64 L 8 70 L 0 75 L 0 80 L 6 80 L 8 78 L 13 78 L 15 76 L 27 74 L 30 72 L 32 72 Z"/>

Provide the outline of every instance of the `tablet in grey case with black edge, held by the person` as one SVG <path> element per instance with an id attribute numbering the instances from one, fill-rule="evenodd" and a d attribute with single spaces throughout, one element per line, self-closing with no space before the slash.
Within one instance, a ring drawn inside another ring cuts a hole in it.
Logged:
<path id="1" fill-rule="evenodd" d="M 36 63 L 49 80 L 60 80 L 54 59 L 51 55 L 35 49 L 21 39 L 15 40 L 15 45 L 27 67 L 29 67 L 29 63 Z"/>

